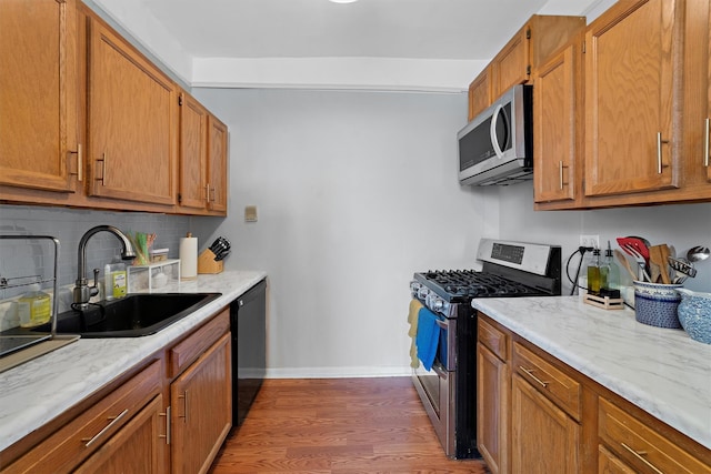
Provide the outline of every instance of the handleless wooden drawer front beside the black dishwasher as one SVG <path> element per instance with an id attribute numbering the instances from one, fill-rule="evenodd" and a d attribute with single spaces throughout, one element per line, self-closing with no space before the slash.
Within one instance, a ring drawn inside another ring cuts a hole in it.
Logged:
<path id="1" fill-rule="evenodd" d="M 230 310 L 226 307 L 209 323 L 168 351 L 168 376 L 178 376 L 229 330 Z"/>

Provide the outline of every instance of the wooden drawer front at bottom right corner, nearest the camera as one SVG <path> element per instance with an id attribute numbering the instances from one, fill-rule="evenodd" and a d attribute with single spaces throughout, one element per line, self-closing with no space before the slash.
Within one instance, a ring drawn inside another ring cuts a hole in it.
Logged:
<path id="1" fill-rule="evenodd" d="M 600 399 L 598 434 L 617 455 L 644 473 L 709 473 L 711 466 L 605 399 Z"/>

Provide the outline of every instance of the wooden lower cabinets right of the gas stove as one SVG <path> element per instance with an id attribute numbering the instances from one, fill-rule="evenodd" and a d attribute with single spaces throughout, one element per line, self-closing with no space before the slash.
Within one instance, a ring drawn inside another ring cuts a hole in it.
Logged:
<path id="1" fill-rule="evenodd" d="M 479 313 L 477 443 L 494 474 L 711 474 L 711 450 Z"/>

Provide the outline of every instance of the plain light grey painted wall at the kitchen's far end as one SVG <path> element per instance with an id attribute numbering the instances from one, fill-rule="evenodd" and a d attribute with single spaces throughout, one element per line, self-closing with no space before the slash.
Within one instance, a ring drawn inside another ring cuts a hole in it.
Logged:
<path id="1" fill-rule="evenodd" d="M 497 191 L 457 181 L 467 95 L 194 94 L 230 128 L 230 214 L 193 228 L 269 273 L 270 376 L 409 373 L 412 273 L 471 266 L 497 232 Z"/>

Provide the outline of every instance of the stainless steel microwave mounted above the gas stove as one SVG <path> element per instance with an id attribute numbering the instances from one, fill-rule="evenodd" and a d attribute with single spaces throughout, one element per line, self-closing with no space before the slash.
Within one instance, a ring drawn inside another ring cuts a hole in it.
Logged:
<path id="1" fill-rule="evenodd" d="M 459 181 L 505 185 L 532 179 L 533 98 L 515 85 L 457 133 Z"/>

